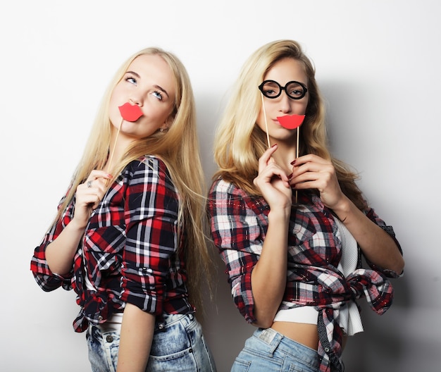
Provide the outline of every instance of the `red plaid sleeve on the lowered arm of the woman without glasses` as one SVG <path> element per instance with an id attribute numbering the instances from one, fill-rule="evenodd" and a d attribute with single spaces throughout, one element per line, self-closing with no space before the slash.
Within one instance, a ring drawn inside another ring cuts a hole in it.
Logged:
<path id="1" fill-rule="evenodd" d="M 121 299 L 158 315 L 168 275 L 179 264 L 178 192 L 165 164 L 154 157 L 132 168 L 127 182 Z"/>

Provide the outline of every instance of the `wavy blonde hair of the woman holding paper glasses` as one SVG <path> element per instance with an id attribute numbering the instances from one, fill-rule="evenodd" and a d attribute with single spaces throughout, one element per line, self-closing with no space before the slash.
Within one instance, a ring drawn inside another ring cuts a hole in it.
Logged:
<path id="1" fill-rule="evenodd" d="M 213 178 L 223 178 L 250 194 L 259 195 L 253 184 L 259 170 L 259 158 L 267 149 L 266 133 L 256 125 L 261 110 L 259 85 L 275 63 L 293 58 L 304 66 L 308 78 L 309 102 L 300 131 L 299 155 L 316 154 L 333 162 L 342 191 L 359 207 L 366 208 L 357 176 L 330 154 L 325 128 L 325 104 L 315 77 L 315 68 L 294 40 L 277 40 L 261 46 L 242 67 L 230 99 L 216 130 L 214 159 L 218 171 Z"/>

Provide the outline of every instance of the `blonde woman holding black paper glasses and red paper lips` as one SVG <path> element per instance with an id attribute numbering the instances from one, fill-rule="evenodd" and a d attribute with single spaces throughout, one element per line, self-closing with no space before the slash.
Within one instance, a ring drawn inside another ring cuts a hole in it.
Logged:
<path id="1" fill-rule="evenodd" d="M 383 314 L 387 277 L 404 268 L 392 228 L 330 154 L 314 74 L 297 42 L 262 46 L 216 132 L 211 232 L 234 302 L 257 327 L 232 371 L 342 371 L 346 336 L 363 330 L 356 300 Z"/>

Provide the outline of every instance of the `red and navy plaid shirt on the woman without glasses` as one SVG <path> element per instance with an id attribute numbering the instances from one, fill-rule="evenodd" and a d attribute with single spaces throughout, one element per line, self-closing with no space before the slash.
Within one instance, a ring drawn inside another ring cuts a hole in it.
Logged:
<path id="1" fill-rule="evenodd" d="M 63 197 L 64 199 L 64 197 Z M 63 202 L 61 199 L 61 202 Z M 72 271 L 51 273 L 46 246 L 73 218 L 75 198 L 35 248 L 31 270 L 45 291 L 75 290 L 76 332 L 104 323 L 125 303 L 152 314 L 190 314 L 183 237 L 178 237 L 179 195 L 165 163 L 154 156 L 132 161 L 92 213 Z M 85 275 L 95 290 L 87 288 Z"/>

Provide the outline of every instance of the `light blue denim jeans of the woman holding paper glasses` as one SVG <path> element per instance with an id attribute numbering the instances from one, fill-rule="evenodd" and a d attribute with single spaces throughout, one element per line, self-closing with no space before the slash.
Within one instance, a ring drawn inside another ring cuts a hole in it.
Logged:
<path id="1" fill-rule="evenodd" d="M 232 365 L 231 372 L 317 372 L 318 353 L 272 328 L 258 328 Z"/>

